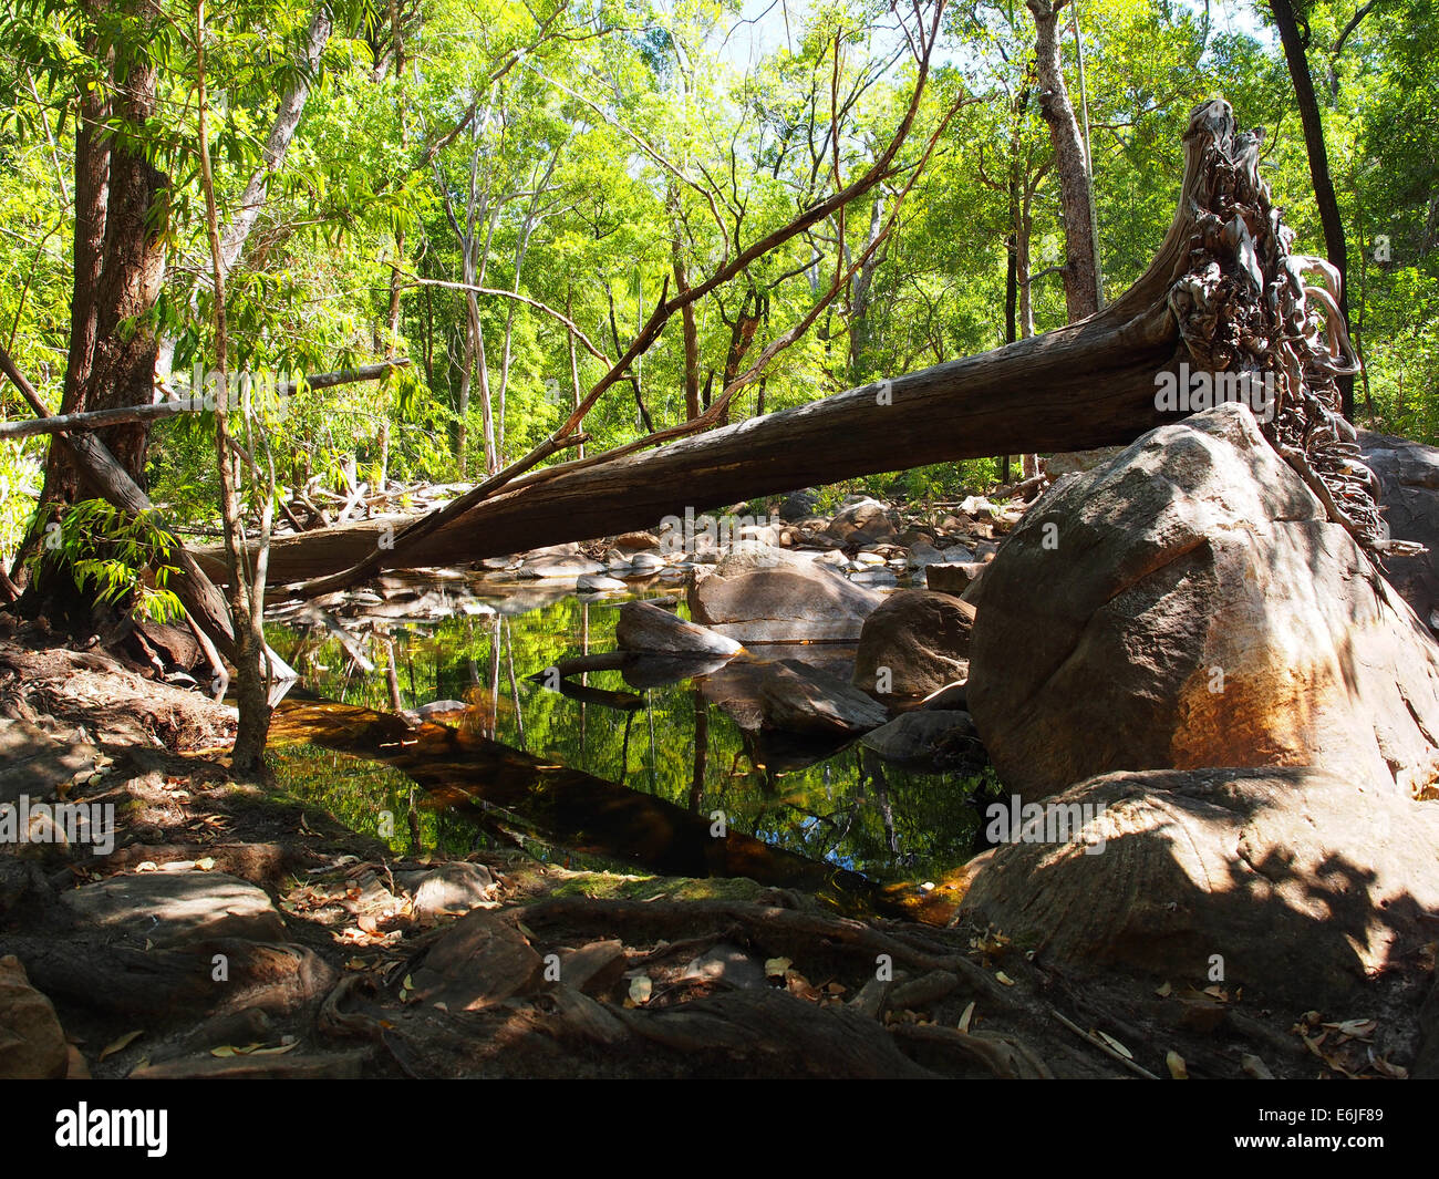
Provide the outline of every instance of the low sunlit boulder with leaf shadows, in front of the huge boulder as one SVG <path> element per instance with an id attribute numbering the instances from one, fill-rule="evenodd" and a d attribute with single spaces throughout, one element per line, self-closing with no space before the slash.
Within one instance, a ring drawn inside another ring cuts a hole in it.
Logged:
<path id="1" fill-rule="evenodd" d="M 1026 832 L 991 803 L 1003 842 L 963 908 L 1081 973 L 1203 989 L 1217 965 L 1246 996 L 1333 1012 L 1439 934 L 1439 802 L 1286 766 L 1114 773 L 1030 805 L 1071 822 L 1036 810 Z"/>

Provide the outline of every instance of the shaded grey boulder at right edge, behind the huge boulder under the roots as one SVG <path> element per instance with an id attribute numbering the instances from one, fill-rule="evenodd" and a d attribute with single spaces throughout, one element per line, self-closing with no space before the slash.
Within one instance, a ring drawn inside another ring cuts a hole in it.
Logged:
<path id="1" fill-rule="evenodd" d="M 1389 534 L 1429 550 L 1419 557 L 1387 557 L 1389 580 L 1420 620 L 1439 632 L 1439 449 L 1368 430 L 1360 430 L 1358 442 L 1379 476 Z"/>

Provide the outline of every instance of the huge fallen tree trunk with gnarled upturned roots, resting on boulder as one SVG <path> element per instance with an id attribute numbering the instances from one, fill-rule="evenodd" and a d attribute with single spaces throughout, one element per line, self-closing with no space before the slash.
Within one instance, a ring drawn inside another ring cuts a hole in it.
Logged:
<path id="1" fill-rule="evenodd" d="M 272 577 L 322 579 L 305 587 L 315 593 L 341 587 L 345 570 L 373 567 L 377 554 L 389 569 L 449 564 L 884 471 L 1127 443 L 1207 407 L 1158 407 L 1161 374 L 1183 374 L 1181 363 L 1193 373 L 1268 376 L 1278 403 L 1266 436 L 1276 446 L 1301 442 L 1334 504 L 1345 501 L 1373 546 L 1367 472 L 1356 469 L 1353 428 L 1334 407 L 1333 379 L 1354 361 L 1331 305 L 1333 276 L 1324 276 L 1328 301 L 1304 285 L 1322 263 L 1289 255 L 1292 235 L 1258 177 L 1258 143 L 1236 135 L 1226 102 L 1196 108 L 1164 242 L 1138 282 L 1088 320 L 646 453 L 532 471 L 478 505 L 420 517 L 422 528 L 378 520 L 276 538 Z"/>

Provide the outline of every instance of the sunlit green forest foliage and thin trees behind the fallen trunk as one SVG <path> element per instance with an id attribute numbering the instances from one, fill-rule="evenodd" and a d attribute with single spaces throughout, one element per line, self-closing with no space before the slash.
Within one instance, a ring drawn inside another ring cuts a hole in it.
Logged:
<path id="1" fill-rule="evenodd" d="M 1433 7 L 1295 10 L 1348 245 L 1348 320 L 1366 361 L 1356 417 L 1425 441 L 1439 436 Z M 206 6 L 232 370 L 412 361 L 378 386 L 275 406 L 279 484 L 504 468 L 564 420 L 659 302 L 856 186 L 896 138 L 876 183 L 663 327 L 586 417 L 589 448 L 682 425 L 740 376 L 721 422 L 1063 324 L 1035 19 L 1023 4 L 953 6 L 931 48 L 930 16 L 873 0 Z M 96 130 L 161 177 L 147 216 L 163 265 L 153 307 L 124 327 L 158 340 L 161 390 L 214 364 L 194 30 L 194 0 L 4 6 L 0 344 L 52 410 L 83 199 L 76 130 L 96 122 L 82 95 L 122 91 L 125 78 L 153 75 L 154 101 L 140 118 L 109 102 Z M 1163 238 L 1186 121 L 1207 98 L 1263 128 L 1261 163 L 1286 222 L 1324 242 L 1269 6 L 1081 3 L 1059 32 L 1092 155 L 1107 299 Z M 7 417 L 30 416 L 10 383 L 0 396 Z M 0 451 L 7 560 L 46 446 Z M 924 494 L 996 474 L 979 461 L 871 484 Z M 199 415 L 154 426 L 142 475 L 158 505 L 213 528 L 213 438 Z"/>

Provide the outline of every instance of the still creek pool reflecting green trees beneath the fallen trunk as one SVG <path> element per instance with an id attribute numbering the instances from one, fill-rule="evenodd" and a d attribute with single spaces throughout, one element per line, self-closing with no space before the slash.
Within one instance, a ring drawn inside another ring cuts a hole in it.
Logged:
<path id="1" fill-rule="evenodd" d="M 511 841 L 573 867 L 661 871 L 684 867 L 679 845 L 721 821 L 787 864 L 802 857 L 876 884 L 937 881 L 976 851 L 980 779 L 904 769 L 859 743 L 776 743 L 754 727 L 753 675 L 741 665 L 672 682 L 589 671 L 553 690 L 548 668 L 614 651 L 619 606 L 663 590 L 481 592 L 449 616 L 347 622 L 350 651 L 325 626 L 268 626 L 271 643 L 304 675 L 272 737 L 281 785 L 396 851 L 414 851 L 414 831 L 422 845 L 450 854 Z M 781 655 L 848 678 L 853 649 L 753 651 L 755 659 Z M 419 743 L 358 711 L 446 700 L 463 711 L 432 715 L 449 728 L 426 726 Z M 475 796 L 486 802 L 476 808 Z M 603 803 L 557 805 L 578 796 Z M 709 874 L 764 869 L 712 862 Z"/>

